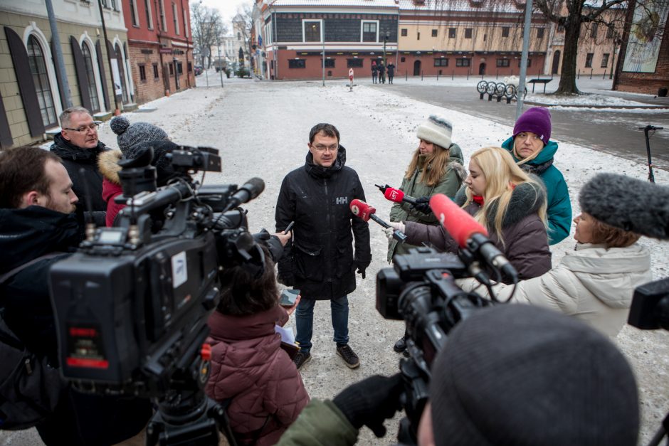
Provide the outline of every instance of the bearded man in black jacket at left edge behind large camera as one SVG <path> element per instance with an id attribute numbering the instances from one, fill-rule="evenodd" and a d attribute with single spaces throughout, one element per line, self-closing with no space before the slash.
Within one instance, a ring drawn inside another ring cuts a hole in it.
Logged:
<path id="1" fill-rule="evenodd" d="M 53 152 L 17 147 L 0 154 L 0 276 L 9 273 L 0 286 L 0 316 L 28 351 L 53 367 L 59 358 L 48 272 L 83 240 L 77 201 Z M 147 400 L 67 388 L 36 428 L 46 445 L 112 445 L 140 432 L 151 414 Z"/>

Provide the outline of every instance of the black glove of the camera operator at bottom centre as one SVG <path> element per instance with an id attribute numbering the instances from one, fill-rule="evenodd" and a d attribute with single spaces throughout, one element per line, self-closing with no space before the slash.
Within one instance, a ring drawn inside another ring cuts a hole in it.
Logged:
<path id="1" fill-rule="evenodd" d="M 399 397 L 404 390 L 402 376 L 374 375 L 345 388 L 332 403 L 342 411 L 354 428 L 366 425 L 376 437 L 386 435 L 384 420 L 392 418 L 400 408 Z"/>

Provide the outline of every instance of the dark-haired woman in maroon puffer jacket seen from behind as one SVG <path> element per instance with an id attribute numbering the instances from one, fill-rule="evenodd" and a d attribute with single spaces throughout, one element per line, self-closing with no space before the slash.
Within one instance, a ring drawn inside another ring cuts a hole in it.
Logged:
<path id="1" fill-rule="evenodd" d="M 288 321 L 288 312 L 279 306 L 274 264 L 265 248 L 263 255 L 260 277 L 244 266 L 223 270 L 221 302 L 209 318 L 211 375 L 205 391 L 217 401 L 231 398 L 227 413 L 238 445 L 274 445 L 309 402 L 274 329 Z M 298 302 L 299 297 L 295 306 Z"/>

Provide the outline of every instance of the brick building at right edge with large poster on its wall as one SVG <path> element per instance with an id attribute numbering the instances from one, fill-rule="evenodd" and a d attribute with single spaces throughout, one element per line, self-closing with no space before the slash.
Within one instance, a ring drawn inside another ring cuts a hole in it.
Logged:
<path id="1" fill-rule="evenodd" d="M 613 90 L 658 95 L 669 88 L 669 4 L 637 6 L 632 1 L 616 64 Z M 652 23 L 654 26 L 648 26 Z"/>

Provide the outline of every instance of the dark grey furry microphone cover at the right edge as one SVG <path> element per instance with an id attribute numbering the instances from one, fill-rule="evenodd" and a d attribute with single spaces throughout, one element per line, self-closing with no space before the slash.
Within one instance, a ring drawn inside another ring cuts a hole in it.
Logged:
<path id="1" fill-rule="evenodd" d="M 669 239 L 669 187 L 618 174 L 597 174 L 579 195 L 581 211 L 647 237 Z"/>

